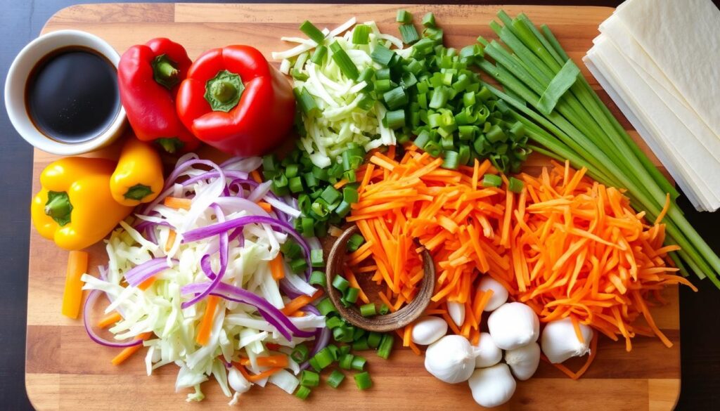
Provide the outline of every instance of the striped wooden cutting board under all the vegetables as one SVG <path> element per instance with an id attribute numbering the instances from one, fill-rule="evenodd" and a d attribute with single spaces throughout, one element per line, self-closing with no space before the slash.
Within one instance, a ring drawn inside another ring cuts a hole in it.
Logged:
<path id="1" fill-rule="evenodd" d="M 333 27 L 356 16 L 359 22 L 375 20 L 380 30 L 397 33 L 395 11 L 408 9 L 416 19 L 432 11 L 444 28 L 446 42 L 462 47 L 478 35 L 494 38 L 487 23 L 499 6 L 397 6 L 320 4 L 86 4 L 60 10 L 43 32 L 78 29 L 110 42 L 120 53 L 152 37 L 170 37 L 186 46 L 194 58 L 202 51 L 229 44 L 249 44 L 269 58 L 284 50 L 281 36 L 298 35 L 305 19 L 320 27 Z M 580 64 L 600 22 L 612 9 L 567 6 L 505 6 L 514 15 L 526 12 L 537 24 L 546 23 L 570 56 Z M 597 89 L 597 83 L 588 77 Z M 606 94 L 603 99 L 609 101 Z M 613 112 L 617 109 L 611 104 Z M 629 124 L 623 119 L 624 125 Z M 636 136 L 636 135 L 635 135 Z M 117 148 L 97 155 L 112 156 Z M 55 158 L 35 150 L 33 191 L 37 177 Z M 546 163 L 535 157 L 534 166 Z M 90 249 L 91 274 L 107 263 L 104 247 Z M 174 392 L 175 366 L 145 375 L 142 352 L 121 366 L 112 366 L 115 349 L 91 342 L 81 320 L 60 315 L 67 253 L 30 235 L 30 272 L 27 307 L 27 394 L 38 410 L 225 410 L 228 398 L 215 381 L 204 384 L 207 398 L 201 404 L 185 402 L 186 392 Z M 627 353 L 623 342 L 600 338 L 598 356 L 580 381 L 541 363 L 533 379 L 518 383 L 508 410 L 670 410 L 680 392 L 680 322 L 678 290 L 665 290 L 668 304 L 655 307 L 657 325 L 672 340 L 638 337 Z M 397 347 L 397 343 L 396 343 Z M 397 349 L 389 361 L 369 354 L 374 387 L 359 392 L 350 377 L 342 389 L 315 389 L 303 402 L 274 386 L 253 388 L 240 399 L 243 410 L 474 410 L 467 384 L 438 381 L 423 368 L 423 358 Z M 578 363 L 573 366 L 579 366 Z"/>

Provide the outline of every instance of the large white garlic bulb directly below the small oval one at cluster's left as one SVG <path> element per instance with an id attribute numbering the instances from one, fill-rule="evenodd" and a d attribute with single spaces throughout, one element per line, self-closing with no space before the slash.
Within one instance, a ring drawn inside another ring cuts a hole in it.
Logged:
<path id="1" fill-rule="evenodd" d="M 462 335 L 446 335 L 425 352 L 425 369 L 449 384 L 467 381 L 475 369 L 475 352 Z"/>

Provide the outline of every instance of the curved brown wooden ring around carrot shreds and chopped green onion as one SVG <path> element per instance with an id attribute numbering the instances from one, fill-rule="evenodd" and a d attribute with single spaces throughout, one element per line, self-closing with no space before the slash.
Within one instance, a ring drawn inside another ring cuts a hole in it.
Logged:
<path id="1" fill-rule="evenodd" d="M 420 291 L 418 291 L 418 294 L 415 295 L 415 298 L 410 304 L 387 315 L 363 317 L 356 307 L 346 308 L 340 301 L 342 297 L 341 293 L 333 287 L 333 279 L 335 279 L 336 275 L 341 274 L 343 269 L 348 240 L 358 231 L 359 229 L 356 225 L 348 228 L 338 237 L 338 240 L 333 244 L 333 248 L 330 249 L 328 266 L 325 271 L 330 299 L 333 301 L 333 304 L 335 304 L 335 307 L 337 307 L 341 317 L 352 325 L 364 330 L 387 333 L 388 331 L 405 327 L 405 325 L 410 324 L 410 322 L 417 320 L 428 307 L 428 304 L 430 304 L 430 297 L 432 297 L 435 287 L 435 264 L 433 263 L 433 258 L 430 256 L 430 253 L 428 253 L 428 250 L 423 249 L 423 271 L 425 271 L 425 275 L 420 282 Z"/>

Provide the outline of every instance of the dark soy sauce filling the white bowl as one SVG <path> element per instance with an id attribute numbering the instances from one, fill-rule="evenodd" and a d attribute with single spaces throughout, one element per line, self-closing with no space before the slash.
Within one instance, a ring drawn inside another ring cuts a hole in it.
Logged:
<path id="1" fill-rule="evenodd" d="M 91 140 L 120 112 L 117 70 L 89 48 L 55 50 L 30 72 L 25 104 L 42 134 L 63 143 Z"/>

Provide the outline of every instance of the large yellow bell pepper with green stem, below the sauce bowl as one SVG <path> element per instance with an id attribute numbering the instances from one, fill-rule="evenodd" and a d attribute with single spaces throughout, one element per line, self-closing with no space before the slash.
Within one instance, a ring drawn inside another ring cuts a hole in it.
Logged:
<path id="1" fill-rule="evenodd" d="M 66 250 L 81 250 L 108 235 L 132 212 L 110 194 L 114 169 L 114 161 L 84 157 L 62 158 L 45 168 L 30 208 L 40 235 Z"/>

